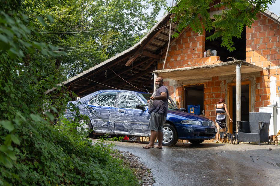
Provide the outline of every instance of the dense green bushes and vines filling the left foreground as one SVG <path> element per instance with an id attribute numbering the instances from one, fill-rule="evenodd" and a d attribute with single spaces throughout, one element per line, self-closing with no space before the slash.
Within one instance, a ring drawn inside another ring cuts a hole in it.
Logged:
<path id="1" fill-rule="evenodd" d="M 46 59 L 61 54 L 34 41 L 32 30 L 21 11 L 1 12 L 0 185 L 138 185 L 112 146 L 93 145 L 75 123 L 53 125 L 71 98 L 48 70 Z M 52 87 L 52 96 L 44 93 Z"/>

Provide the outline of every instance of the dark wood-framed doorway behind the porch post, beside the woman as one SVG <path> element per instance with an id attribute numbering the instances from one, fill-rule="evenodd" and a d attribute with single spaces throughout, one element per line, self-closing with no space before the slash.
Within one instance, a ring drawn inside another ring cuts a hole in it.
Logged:
<path id="1" fill-rule="evenodd" d="M 229 132 L 236 131 L 236 83 L 228 84 L 228 111 L 233 122 L 228 123 Z M 251 82 L 241 82 L 241 120 L 249 121 L 251 111 Z"/>

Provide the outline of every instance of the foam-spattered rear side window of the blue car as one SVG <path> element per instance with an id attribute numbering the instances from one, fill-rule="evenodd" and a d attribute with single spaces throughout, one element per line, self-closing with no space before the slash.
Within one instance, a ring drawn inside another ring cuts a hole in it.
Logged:
<path id="1" fill-rule="evenodd" d="M 94 96 L 89 105 L 113 107 L 117 98 L 117 92 L 104 92 Z"/>

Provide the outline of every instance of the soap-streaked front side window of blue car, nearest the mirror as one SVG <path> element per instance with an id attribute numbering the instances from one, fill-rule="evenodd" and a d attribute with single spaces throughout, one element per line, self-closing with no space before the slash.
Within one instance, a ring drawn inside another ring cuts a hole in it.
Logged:
<path id="1" fill-rule="evenodd" d="M 138 97 L 131 93 L 120 93 L 119 107 L 121 108 L 136 108 L 136 105 L 142 104 Z"/>

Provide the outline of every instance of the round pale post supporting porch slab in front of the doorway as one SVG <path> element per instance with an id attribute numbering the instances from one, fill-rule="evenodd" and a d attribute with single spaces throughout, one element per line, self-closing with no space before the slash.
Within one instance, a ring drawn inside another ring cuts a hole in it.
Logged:
<path id="1" fill-rule="evenodd" d="M 236 63 L 236 121 L 241 121 L 241 63 Z"/>

